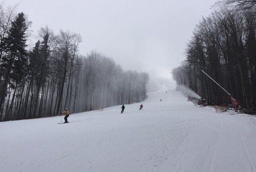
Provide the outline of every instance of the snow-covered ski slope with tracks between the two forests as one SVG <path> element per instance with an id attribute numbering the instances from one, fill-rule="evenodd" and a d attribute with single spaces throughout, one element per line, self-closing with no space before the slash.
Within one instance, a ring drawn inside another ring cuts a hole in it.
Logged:
<path id="1" fill-rule="evenodd" d="M 72 114 L 68 124 L 2 122 L 0 172 L 256 172 L 255 116 L 216 113 L 175 90 L 140 104 Z"/>

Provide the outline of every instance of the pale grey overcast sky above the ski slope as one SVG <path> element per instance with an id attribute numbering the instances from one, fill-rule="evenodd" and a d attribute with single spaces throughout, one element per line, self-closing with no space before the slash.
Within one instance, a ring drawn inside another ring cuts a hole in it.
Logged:
<path id="1" fill-rule="evenodd" d="M 5 0 L 19 3 L 33 34 L 45 25 L 81 34 L 80 53 L 92 49 L 124 70 L 170 75 L 186 57 L 186 43 L 216 0 Z M 33 42 L 33 46 L 34 46 Z"/>

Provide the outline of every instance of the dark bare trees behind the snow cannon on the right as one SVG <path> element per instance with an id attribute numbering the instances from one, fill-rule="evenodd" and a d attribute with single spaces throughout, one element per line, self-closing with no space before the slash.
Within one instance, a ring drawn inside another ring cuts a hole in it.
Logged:
<path id="1" fill-rule="evenodd" d="M 234 8 L 239 3 L 242 1 L 202 18 L 187 44 L 186 60 L 172 75 L 178 84 L 191 88 L 210 104 L 230 103 L 228 95 L 203 70 L 242 107 L 249 108 L 256 105 L 256 13 L 250 8 L 238 13 Z"/>

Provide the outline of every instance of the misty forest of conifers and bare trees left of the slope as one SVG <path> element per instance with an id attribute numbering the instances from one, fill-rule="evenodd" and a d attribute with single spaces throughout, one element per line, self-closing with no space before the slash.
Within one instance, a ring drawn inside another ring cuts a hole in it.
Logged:
<path id="1" fill-rule="evenodd" d="M 16 6 L 0 6 L 0 121 L 103 109 L 146 99 L 147 73 L 123 71 L 92 50 L 79 54 L 80 34 L 48 26 L 27 50 L 31 22 Z"/>

